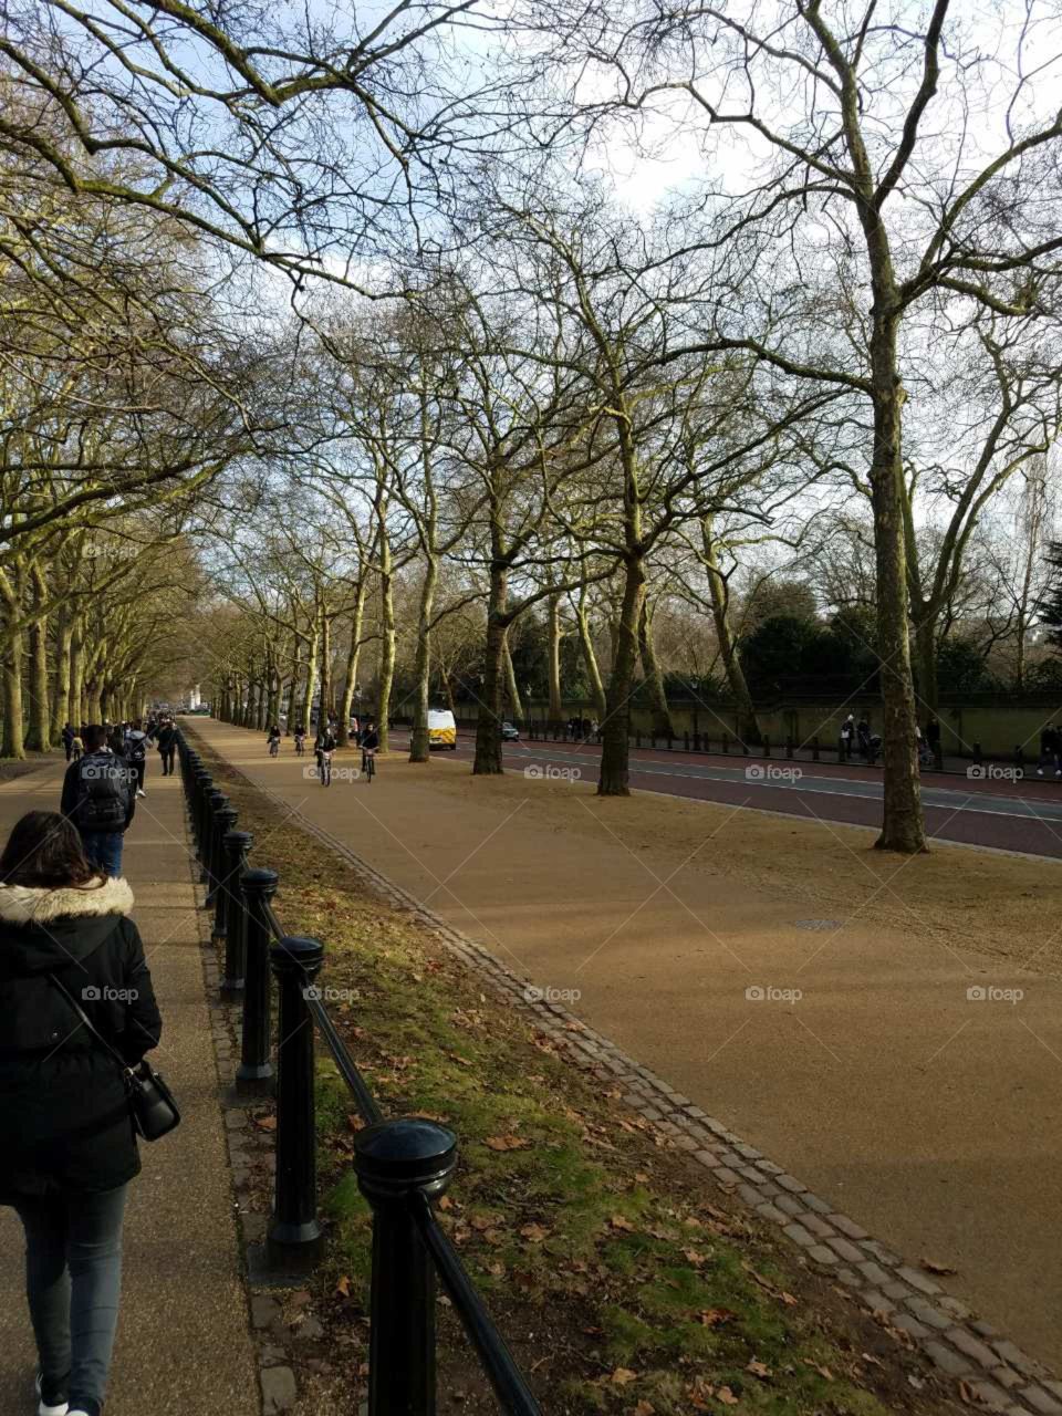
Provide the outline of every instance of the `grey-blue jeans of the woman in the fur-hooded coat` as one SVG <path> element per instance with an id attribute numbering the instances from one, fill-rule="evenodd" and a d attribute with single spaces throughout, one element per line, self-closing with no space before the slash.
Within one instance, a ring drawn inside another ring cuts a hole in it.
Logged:
<path id="1" fill-rule="evenodd" d="M 25 1296 L 50 1405 L 98 1416 L 122 1293 L 126 1185 L 99 1194 L 24 1195 Z"/>

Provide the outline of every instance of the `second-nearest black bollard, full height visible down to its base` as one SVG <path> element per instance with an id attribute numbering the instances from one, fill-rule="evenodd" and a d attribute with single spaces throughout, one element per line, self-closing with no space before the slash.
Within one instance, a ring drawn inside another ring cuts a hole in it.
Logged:
<path id="1" fill-rule="evenodd" d="M 269 1269 L 306 1273 L 321 1250 L 317 1222 L 317 1123 L 313 1017 L 307 991 L 320 973 L 320 939 L 286 935 L 269 949 L 280 997 L 276 1049 L 276 1188 L 266 1236 Z"/>

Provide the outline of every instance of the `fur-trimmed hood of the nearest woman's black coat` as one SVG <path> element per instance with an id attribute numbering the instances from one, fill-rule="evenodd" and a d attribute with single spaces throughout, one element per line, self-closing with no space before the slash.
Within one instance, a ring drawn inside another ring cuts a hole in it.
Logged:
<path id="1" fill-rule="evenodd" d="M 116 929 L 130 929 L 127 881 L 96 889 L 0 885 L 0 980 L 51 973 L 85 960 Z"/>

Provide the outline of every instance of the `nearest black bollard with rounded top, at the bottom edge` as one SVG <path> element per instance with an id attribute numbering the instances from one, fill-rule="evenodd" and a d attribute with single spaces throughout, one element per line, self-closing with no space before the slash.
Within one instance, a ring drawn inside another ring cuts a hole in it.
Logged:
<path id="1" fill-rule="evenodd" d="M 378 1121 L 354 1137 L 354 1168 L 372 1205 L 368 1416 L 435 1413 L 435 1264 L 415 1206 L 440 1195 L 457 1138 L 416 1116 Z"/>

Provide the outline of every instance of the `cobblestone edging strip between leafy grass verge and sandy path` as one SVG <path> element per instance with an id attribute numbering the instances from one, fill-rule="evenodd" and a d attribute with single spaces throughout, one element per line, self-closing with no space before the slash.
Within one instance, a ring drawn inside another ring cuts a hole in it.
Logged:
<path id="1" fill-rule="evenodd" d="M 293 811 L 283 797 L 252 782 L 238 767 L 227 766 L 343 857 L 375 893 L 411 913 L 508 1003 L 523 1008 L 578 1066 L 623 1087 L 623 1100 L 678 1150 L 688 1151 L 715 1185 L 728 1195 L 736 1194 L 758 1215 L 777 1225 L 806 1262 L 850 1289 L 855 1301 L 888 1328 L 906 1334 L 910 1344 L 944 1376 L 961 1383 L 960 1396 L 964 1400 L 1004 1412 L 1005 1416 L 1062 1416 L 1062 1381 L 1041 1362 L 582 1018 L 558 1003 L 528 997 L 527 980 L 518 978 L 494 954 L 381 875 L 330 831 Z M 217 997 L 217 964 L 214 974 Z M 217 1011 L 224 1014 L 227 1010 L 219 1007 Z M 228 1029 L 225 1041 L 231 1044 Z M 266 1406 L 266 1416 L 283 1409 Z"/>

